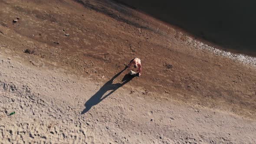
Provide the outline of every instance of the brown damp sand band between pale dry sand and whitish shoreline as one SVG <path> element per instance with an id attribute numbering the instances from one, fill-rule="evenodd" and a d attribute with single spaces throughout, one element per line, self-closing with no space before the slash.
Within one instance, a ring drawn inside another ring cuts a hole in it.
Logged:
<path id="1" fill-rule="evenodd" d="M 128 82 L 127 91 L 256 118 L 255 67 L 196 49 L 185 34 L 149 16 L 105 0 L 0 0 L 0 5 L 0 49 L 10 56 L 37 67 L 55 65 L 96 83 L 109 81 L 138 56 L 142 76 Z M 102 53 L 109 53 L 107 59 L 96 56 Z"/>

